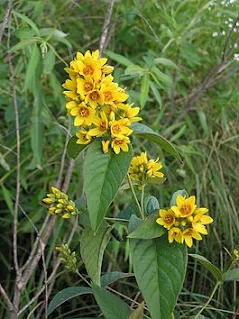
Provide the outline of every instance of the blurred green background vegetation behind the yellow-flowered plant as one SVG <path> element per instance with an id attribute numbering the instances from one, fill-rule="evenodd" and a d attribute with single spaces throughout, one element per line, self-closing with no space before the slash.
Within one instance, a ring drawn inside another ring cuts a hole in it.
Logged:
<path id="1" fill-rule="evenodd" d="M 7 2 L 0 3 L 2 20 Z M 0 47 L 0 280 L 10 295 L 15 278 L 11 242 L 16 193 L 12 85 L 20 120 L 18 237 L 23 262 L 35 238 L 33 225 L 39 229 L 47 213 L 41 199 L 58 178 L 67 131 L 75 132 L 68 123 L 62 94 L 61 84 L 67 77 L 64 67 L 76 51 L 98 48 L 107 7 L 108 1 L 15 1 L 9 28 L 4 30 Z M 151 193 L 163 207 L 174 191 L 185 188 L 197 196 L 198 204 L 209 207 L 214 223 L 191 252 L 204 255 L 222 271 L 231 263 L 239 233 L 238 12 L 239 3 L 229 0 L 115 1 L 104 53 L 115 66 L 115 80 L 128 87 L 130 101 L 141 106 L 144 122 L 175 143 L 183 157 L 180 163 L 153 144 L 134 141 L 135 153 L 147 150 L 152 157 L 160 156 L 164 164 L 167 181 Z M 9 60 L 15 83 L 9 76 Z M 83 159 L 81 155 L 75 162 L 68 190 L 74 199 L 83 192 Z M 67 158 L 64 172 L 69 165 Z M 125 208 L 128 200 L 128 192 L 121 191 L 109 216 Z M 71 223 L 58 222 L 47 250 L 49 269 L 54 246 L 71 228 Z M 76 252 L 78 235 L 79 231 L 71 245 Z M 130 271 L 128 259 L 127 243 L 112 241 L 103 270 Z M 40 265 L 22 306 L 41 287 L 43 277 Z M 76 280 L 69 275 L 59 277 L 52 296 Z M 205 302 L 213 284 L 210 274 L 190 259 L 177 305 L 181 318 Z M 133 279 L 114 288 L 131 298 L 137 294 Z M 208 318 L 236 318 L 237 296 L 235 283 L 224 285 L 207 311 Z M 0 302 L 0 315 L 6 318 Z M 99 314 L 94 304 L 90 297 L 74 300 L 64 309 L 70 313 L 63 315 L 59 308 L 58 317 L 55 312 L 52 318 Z"/>

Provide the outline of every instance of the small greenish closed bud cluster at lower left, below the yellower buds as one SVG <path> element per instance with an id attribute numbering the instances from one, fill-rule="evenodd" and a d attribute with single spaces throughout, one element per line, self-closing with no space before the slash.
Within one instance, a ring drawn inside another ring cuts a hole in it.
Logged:
<path id="1" fill-rule="evenodd" d="M 55 248 L 59 251 L 59 258 L 65 269 L 69 272 L 77 273 L 77 258 L 75 251 L 71 251 L 67 244 L 62 244 Z"/>

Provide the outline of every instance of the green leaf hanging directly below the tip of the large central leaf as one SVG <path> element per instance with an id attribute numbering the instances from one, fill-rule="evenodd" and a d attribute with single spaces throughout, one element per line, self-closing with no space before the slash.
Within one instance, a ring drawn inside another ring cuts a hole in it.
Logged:
<path id="1" fill-rule="evenodd" d="M 91 280 L 100 286 L 101 265 L 105 248 L 110 239 L 112 227 L 106 222 L 99 228 L 96 234 L 86 227 L 80 238 L 80 252 L 85 268 Z"/>

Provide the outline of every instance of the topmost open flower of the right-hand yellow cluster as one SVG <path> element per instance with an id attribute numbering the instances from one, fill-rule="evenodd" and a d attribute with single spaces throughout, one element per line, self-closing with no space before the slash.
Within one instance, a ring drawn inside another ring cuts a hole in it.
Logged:
<path id="1" fill-rule="evenodd" d="M 197 206 L 195 205 L 195 196 L 190 196 L 189 198 L 178 195 L 176 199 L 177 206 L 172 206 L 171 209 L 175 214 L 175 217 L 188 217 L 192 215 Z"/>

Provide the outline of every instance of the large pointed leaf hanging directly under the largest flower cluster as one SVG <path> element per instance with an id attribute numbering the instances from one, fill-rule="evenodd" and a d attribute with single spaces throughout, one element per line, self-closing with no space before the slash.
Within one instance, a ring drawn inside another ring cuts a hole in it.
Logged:
<path id="1" fill-rule="evenodd" d="M 89 146 L 85 156 L 84 180 L 90 222 L 94 231 L 99 227 L 122 184 L 131 159 L 131 147 L 128 152 L 121 151 L 117 155 L 112 149 L 104 154 L 99 140 Z"/>

